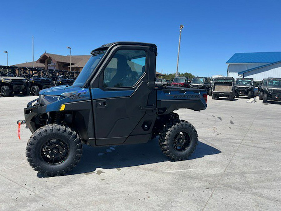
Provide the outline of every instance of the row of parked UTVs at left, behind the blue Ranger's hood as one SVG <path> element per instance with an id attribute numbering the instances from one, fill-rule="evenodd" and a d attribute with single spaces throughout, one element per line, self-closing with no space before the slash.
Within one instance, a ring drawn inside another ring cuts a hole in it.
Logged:
<path id="1" fill-rule="evenodd" d="M 71 85 L 79 72 L 67 70 L 44 70 L 15 66 L 0 66 L 0 90 L 2 96 L 13 93 L 39 95 L 40 90 L 59 85 Z"/>

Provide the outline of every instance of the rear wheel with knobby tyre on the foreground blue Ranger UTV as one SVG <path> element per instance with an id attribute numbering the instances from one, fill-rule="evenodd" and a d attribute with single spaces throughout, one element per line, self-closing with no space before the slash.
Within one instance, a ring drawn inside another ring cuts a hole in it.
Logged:
<path id="1" fill-rule="evenodd" d="M 159 145 L 167 157 L 176 161 L 186 160 L 196 148 L 197 137 L 193 125 L 182 120 L 164 128 L 159 137 Z"/>

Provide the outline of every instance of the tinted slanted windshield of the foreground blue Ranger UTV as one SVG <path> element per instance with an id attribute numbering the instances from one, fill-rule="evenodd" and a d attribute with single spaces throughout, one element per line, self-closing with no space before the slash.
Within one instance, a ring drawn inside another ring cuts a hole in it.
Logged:
<path id="1" fill-rule="evenodd" d="M 84 68 L 81 70 L 81 73 L 78 75 L 72 86 L 81 87 L 84 85 L 86 80 L 95 70 L 97 64 L 101 61 L 101 58 L 105 54 L 106 50 L 93 52 L 93 56 L 88 60 Z"/>

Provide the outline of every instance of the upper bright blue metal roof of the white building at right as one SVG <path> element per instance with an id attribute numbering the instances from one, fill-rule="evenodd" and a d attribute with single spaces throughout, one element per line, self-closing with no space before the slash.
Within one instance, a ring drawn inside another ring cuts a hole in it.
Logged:
<path id="1" fill-rule="evenodd" d="M 273 63 L 281 61 L 281 52 L 235 53 L 226 63 Z"/>

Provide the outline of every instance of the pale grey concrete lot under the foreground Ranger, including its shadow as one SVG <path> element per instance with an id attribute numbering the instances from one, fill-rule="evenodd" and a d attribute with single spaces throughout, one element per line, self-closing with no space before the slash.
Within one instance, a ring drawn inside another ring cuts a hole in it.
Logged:
<path id="1" fill-rule="evenodd" d="M 31 132 L 17 138 L 35 98 L 0 96 L 0 210 L 280 210 L 280 103 L 208 97 L 205 111 L 178 110 L 200 141 L 186 161 L 169 161 L 157 139 L 84 145 L 69 174 L 42 177 L 25 156 Z"/>

